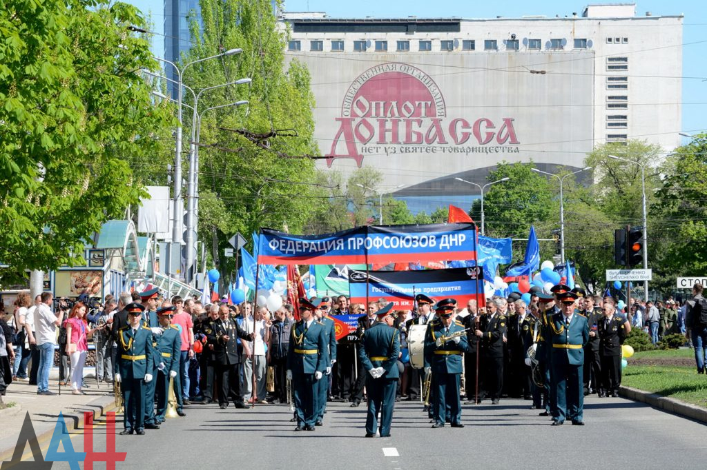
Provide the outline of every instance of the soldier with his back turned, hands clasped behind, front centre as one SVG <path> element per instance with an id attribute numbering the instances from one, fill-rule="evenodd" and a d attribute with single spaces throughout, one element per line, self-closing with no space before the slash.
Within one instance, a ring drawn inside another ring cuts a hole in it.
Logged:
<path id="1" fill-rule="evenodd" d="M 380 411 L 380 437 L 390 437 L 390 423 L 395 406 L 395 392 L 399 370 L 397 358 L 400 353 L 400 334 L 394 328 L 390 313 L 394 303 L 388 303 L 375 314 L 378 319 L 363 332 L 358 349 L 358 360 L 368 371 L 366 391 L 368 411 L 366 414 L 366 438 L 373 438 L 378 429 Z"/>

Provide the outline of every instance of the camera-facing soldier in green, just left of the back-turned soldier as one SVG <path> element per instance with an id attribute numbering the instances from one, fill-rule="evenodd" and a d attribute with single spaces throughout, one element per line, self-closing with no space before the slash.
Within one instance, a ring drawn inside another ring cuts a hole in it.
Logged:
<path id="1" fill-rule="evenodd" d="M 314 319 L 320 299 L 300 299 L 301 319 L 290 333 L 286 378 L 292 380 L 297 418 L 296 431 L 314 430 L 319 410 L 318 381 L 329 367 L 324 327 Z"/>

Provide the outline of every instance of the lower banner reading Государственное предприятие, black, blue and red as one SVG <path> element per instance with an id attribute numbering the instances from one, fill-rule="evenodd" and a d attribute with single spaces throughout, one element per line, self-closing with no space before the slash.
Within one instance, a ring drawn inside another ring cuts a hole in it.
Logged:
<path id="1" fill-rule="evenodd" d="M 478 279 L 477 279 L 478 278 Z M 368 288 L 368 295 L 366 289 Z M 484 277 L 477 267 L 423 271 L 356 271 L 349 270 L 351 305 L 385 299 L 394 309 L 409 310 L 417 294 L 435 300 L 456 299 L 464 308 L 471 299 L 484 306 Z"/>

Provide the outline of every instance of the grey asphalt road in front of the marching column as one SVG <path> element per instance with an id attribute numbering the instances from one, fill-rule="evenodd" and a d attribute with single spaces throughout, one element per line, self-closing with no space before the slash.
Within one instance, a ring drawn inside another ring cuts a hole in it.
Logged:
<path id="1" fill-rule="evenodd" d="M 192 405 L 146 435 L 116 436 L 117 469 L 703 469 L 707 427 L 626 399 L 591 398 L 586 426 L 550 426 L 530 402 L 464 406 L 463 429 L 432 429 L 420 404 L 396 404 L 390 438 L 364 438 L 366 408 L 329 404 L 325 425 L 293 432 L 286 405 Z M 122 426 L 118 425 L 118 430 Z M 105 450 L 105 426 L 95 430 Z M 83 440 L 74 438 L 74 449 Z M 69 468 L 55 462 L 54 469 Z M 83 467 L 82 467 L 83 468 Z M 94 464 L 95 469 L 106 468 Z"/>

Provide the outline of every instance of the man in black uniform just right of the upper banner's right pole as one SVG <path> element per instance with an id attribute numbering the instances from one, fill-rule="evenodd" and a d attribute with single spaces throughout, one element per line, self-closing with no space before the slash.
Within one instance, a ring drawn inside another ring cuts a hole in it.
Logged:
<path id="1" fill-rule="evenodd" d="M 481 338 L 481 359 L 484 364 L 484 394 L 491 399 L 492 404 L 498 404 L 503 390 L 503 344 L 506 342 L 506 325 L 508 319 L 503 315 L 506 299 L 496 299 L 496 310 L 481 315 L 479 329 L 474 333 Z"/>

